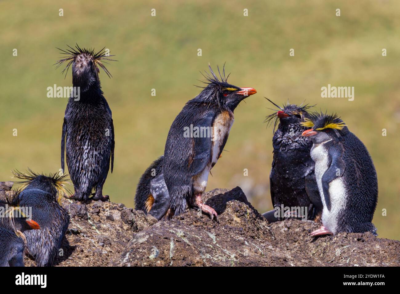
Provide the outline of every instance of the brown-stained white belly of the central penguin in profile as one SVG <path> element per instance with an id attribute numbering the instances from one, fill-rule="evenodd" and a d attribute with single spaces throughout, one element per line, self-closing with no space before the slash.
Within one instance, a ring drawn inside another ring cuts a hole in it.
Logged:
<path id="1" fill-rule="evenodd" d="M 215 118 L 212 128 L 213 138 L 210 138 L 210 140 L 212 140 L 210 162 L 208 162 L 200 174 L 193 177 L 193 188 L 195 193 L 203 193 L 206 190 L 208 174 L 218 161 L 221 146 L 224 144 L 225 137 L 229 136 L 233 122 L 233 113 L 229 112 L 222 112 Z"/>

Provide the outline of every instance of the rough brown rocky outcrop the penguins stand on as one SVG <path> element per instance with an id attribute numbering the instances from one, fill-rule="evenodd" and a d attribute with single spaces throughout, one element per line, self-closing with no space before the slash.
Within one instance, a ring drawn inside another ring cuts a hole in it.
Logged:
<path id="1" fill-rule="evenodd" d="M 320 226 L 312 221 L 268 224 L 239 187 L 204 199 L 218 222 L 195 209 L 157 222 L 123 204 L 63 199 L 71 222 L 56 266 L 400 265 L 399 241 L 369 232 L 311 238 Z M 26 257 L 25 264 L 34 262 Z"/>

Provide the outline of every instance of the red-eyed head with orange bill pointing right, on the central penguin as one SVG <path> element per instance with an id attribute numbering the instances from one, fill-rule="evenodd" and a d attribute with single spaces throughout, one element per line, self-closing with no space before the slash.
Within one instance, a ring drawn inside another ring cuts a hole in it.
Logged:
<path id="1" fill-rule="evenodd" d="M 254 88 L 242 88 L 229 84 L 229 74 L 225 76 L 225 66 L 222 68 L 222 74 L 217 66 L 219 78 L 213 72 L 210 64 L 208 64 L 208 68 L 210 73 L 206 72 L 203 74 L 205 78 L 203 82 L 206 86 L 200 87 L 203 88 L 203 90 L 194 100 L 207 104 L 214 104 L 220 109 L 230 109 L 234 111 L 242 100 L 257 93 Z"/>

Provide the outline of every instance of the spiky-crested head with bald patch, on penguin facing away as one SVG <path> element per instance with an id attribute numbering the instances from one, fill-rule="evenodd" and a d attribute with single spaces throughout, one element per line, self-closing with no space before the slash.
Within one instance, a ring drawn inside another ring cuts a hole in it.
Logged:
<path id="1" fill-rule="evenodd" d="M 65 75 L 67 75 L 68 69 L 72 66 L 72 84 L 75 87 L 80 87 L 80 91 L 86 91 L 93 85 L 97 85 L 100 88 L 99 67 L 111 78 L 110 72 L 101 60 L 115 61 L 109 58 L 114 55 L 109 55 L 109 52 L 106 52 L 104 48 L 96 53 L 94 49 L 80 48 L 78 44 L 76 44 L 75 48 L 68 47 L 70 49 L 62 50 L 57 48 L 61 51 L 61 54 L 66 54 L 56 62 L 57 68 L 67 62 L 62 71 L 62 73 L 65 71 Z"/>

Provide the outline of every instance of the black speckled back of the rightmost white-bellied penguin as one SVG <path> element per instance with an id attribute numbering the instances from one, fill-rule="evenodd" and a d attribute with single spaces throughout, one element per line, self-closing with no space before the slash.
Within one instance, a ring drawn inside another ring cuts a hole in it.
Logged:
<path id="1" fill-rule="evenodd" d="M 342 179 L 348 198 L 346 208 L 338 217 L 338 227 L 345 232 L 367 232 L 376 235 L 371 223 L 378 202 L 378 177 L 366 146 L 348 132 L 342 136 L 342 159 L 346 164 Z"/>

